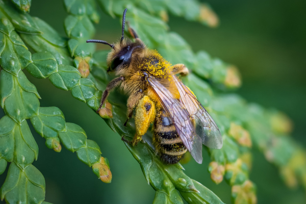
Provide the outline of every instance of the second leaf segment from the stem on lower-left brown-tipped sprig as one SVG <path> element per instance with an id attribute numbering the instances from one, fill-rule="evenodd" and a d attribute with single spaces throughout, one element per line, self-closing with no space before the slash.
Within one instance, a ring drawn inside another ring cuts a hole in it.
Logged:
<path id="1" fill-rule="evenodd" d="M 86 133 L 77 124 L 66 123 L 66 131 L 59 132 L 59 138 L 66 149 L 74 152 L 82 147 L 86 147 Z"/>

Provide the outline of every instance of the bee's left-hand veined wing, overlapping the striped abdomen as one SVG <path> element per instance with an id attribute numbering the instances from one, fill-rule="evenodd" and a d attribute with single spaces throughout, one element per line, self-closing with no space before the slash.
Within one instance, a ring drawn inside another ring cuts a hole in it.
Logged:
<path id="1" fill-rule="evenodd" d="M 147 81 L 159 97 L 165 111 L 169 113 L 175 130 L 182 139 L 183 144 L 190 151 L 194 160 L 201 164 L 203 160 L 201 138 L 195 134 L 188 112 L 180 101 L 173 98 L 170 91 L 159 83 L 156 78 L 149 76 Z"/>

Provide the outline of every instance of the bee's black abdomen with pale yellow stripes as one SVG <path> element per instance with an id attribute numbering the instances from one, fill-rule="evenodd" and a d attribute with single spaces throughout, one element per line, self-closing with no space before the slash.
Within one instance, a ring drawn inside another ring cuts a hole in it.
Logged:
<path id="1" fill-rule="evenodd" d="M 179 162 L 187 148 L 177 134 L 174 124 L 163 108 L 157 110 L 153 143 L 161 160 L 167 164 Z"/>

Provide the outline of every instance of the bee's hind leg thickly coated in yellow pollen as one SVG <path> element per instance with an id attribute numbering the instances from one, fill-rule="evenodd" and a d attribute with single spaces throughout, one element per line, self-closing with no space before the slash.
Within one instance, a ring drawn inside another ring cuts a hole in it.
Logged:
<path id="1" fill-rule="evenodd" d="M 143 96 L 136 108 L 135 126 L 136 134 L 132 140 L 132 145 L 136 146 L 141 141 L 142 136 L 147 132 L 150 124 L 156 116 L 155 104 L 148 96 Z"/>

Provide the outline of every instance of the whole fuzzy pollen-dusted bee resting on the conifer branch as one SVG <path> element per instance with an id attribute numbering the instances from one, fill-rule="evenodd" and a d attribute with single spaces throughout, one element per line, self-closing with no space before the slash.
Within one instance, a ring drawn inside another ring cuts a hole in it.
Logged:
<path id="1" fill-rule="evenodd" d="M 107 72 L 115 72 L 119 76 L 107 85 L 97 112 L 109 93 L 120 87 L 130 95 L 124 125 L 136 109 L 136 134 L 132 141 L 123 137 L 122 140 L 137 145 L 154 122 L 153 143 L 164 163 L 179 162 L 188 150 L 201 164 L 202 144 L 210 148 L 222 147 L 218 126 L 193 92 L 177 78 L 176 74 L 188 74 L 184 64 L 171 65 L 156 50 L 147 48 L 130 26 L 129 32 L 134 40 L 124 39 L 126 10 L 123 12 L 119 42 L 110 44 L 103 40 L 87 40 L 111 46 Z"/>

